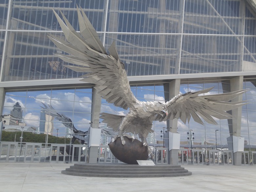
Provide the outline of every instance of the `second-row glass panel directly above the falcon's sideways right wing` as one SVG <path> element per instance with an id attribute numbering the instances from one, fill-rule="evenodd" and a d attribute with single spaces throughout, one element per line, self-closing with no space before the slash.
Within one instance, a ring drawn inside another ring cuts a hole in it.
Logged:
<path id="1" fill-rule="evenodd" d="M 180 73 L 240 71 L 241 37 L 184 35 Z"/>

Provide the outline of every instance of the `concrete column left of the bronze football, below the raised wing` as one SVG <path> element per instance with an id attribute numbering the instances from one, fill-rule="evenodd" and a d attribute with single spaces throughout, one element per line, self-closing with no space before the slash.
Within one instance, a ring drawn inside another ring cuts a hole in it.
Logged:
<path id="1" fill-rule="evenodd" d="M 91 127 L 98 129 L 99 128 L 99 113 L 101 106 L 101 96 L 98 95 L 98 91 L 94 89 L 93 91 L 93 105 L 92 105 L 92 120 Z M 90 133 L 89 139 L 93 138 L 93 133 Z M 99 139 L 100 140 L 100 139 Z M 89 140 L 88 140 L 89 143 Z M 98 158 L 98 146 L 89 147 L 89 163 L 97 163 Z"/>

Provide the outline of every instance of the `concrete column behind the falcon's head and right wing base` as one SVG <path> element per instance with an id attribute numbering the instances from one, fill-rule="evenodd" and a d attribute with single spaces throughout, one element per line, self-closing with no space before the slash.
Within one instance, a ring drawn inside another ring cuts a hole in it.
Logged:
<path id="1" fill-rule="evenodd" d="M 181 79 L 175 79 L 169 82 L 169 100 L 180 93 Z M 172 133 L 177 133 L 178 119 L 168 120 L 167 127 L 170 128 L 169 131 Z M 178 164 L 178 149 L 172 149 L 169 151 L 169 164 Z"/>

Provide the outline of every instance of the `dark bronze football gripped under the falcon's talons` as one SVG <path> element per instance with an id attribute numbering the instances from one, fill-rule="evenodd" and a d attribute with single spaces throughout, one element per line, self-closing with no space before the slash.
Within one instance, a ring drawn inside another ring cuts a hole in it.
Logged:
<path id="1" fill-rule="evenodd" d="M 132 142 L 132 139 L 125 136 L 124 140 L 124 145 L 120 137 L 109 143 L 109 149 L 118 160 L 127 164 L 138 164 L 137 160 L 148 159 L 148 149 L 141 141 L 135 139 Z"/>

